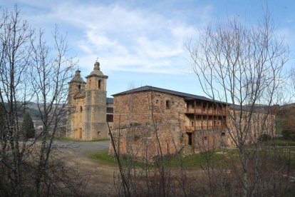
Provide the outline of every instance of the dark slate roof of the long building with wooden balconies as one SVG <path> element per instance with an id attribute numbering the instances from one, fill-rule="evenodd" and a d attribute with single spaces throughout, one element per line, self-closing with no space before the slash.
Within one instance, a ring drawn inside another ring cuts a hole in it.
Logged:
<path id="1" fill-rule="evenodd" d="M 172 90 L 167 90 L 167 89 L 160 89 L 160 88 L 157 88 L 157 87 L 153 87 L 153 86 L 143 86 L 143 87 L 140 87 L 138 89 L 132 89 L 132 90 L 129 90 L 129 91 L 123 91 L 123 92 L 120 92 L 118 94 L 113 94 L 112 96 L 118 96 L 118 95 L 123 95 L 123 94 L 131 94 L 131 93 L 135 93 L 135 92 L 140 92 L 140 91 L 158 91 L 158 92 L 162 92 L 162 93 L 166 93 L 166 94 L 172 94 L 172 95 L 175 95 L 175 96 L 180 96 L 182 98 L 185 98 L 185 100 L 202 100 L 202 101 L 213 101 L 212 99 L 210 98 L 207 98 L 205 96 L 197 96 L 197 95 L 194 95 L 194 94 L 187 94 L 187 93 L 183 93 L 183 92 L 180 92 L 180 91 L 172 91 Z M 224 102 L 221 102 L 221 101 L 218 101 L 219 103 L 224 103 Z"/>

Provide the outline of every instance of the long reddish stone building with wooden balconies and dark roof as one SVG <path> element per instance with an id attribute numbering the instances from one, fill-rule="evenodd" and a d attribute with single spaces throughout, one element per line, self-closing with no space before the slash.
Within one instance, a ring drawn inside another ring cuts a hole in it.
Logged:
<path id="1" fill-rule="evenodd" d="M 236 111 L 227 103 L 152 86 L 113 96 L 112 133 L 120 153 L 152 158 L 181 150 L 190 154 L 233 145 L 229 135 L 234 136 L 235 131 L 229 116 Z M 263 114 L 253 115 L 253 131 L 264 125 L 257 121 L 266 117 Z M 257 141 L 258 134 L 252 133 L 252 139 Z M 112 146 L 110 153 L 113 153 Z"/>

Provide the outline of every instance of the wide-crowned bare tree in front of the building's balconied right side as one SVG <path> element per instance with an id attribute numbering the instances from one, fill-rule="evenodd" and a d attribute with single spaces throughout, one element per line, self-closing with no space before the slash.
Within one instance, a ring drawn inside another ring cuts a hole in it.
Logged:
<path id="1" fill-rule="evenodd" d="M 259 186 L 266 180 L 261 180 L 257 168 L 262 158 L 257 138 L 275 131 L 271 106 L 276 103 L 289 49 L 277 38 L 268 13 L 257 26 L 242 24 L 236 17 L 209 25 L 197 44 L 191 41 L 187 49 L 205 94 L 230 103 L 226 125 L 242 166 L 241 178 L 237 175 L 241 194 L 260 195 Z M 250 168 L 253 160 L 257 165 Z M 250 178 L 252 170 L 256 175 Z"/>

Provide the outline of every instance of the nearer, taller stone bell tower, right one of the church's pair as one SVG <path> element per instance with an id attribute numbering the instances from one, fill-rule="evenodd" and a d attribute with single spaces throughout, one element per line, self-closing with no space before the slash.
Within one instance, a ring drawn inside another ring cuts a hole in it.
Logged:
<path id="1" fill-rule="evenodd" d="M 106 81 L 100 71 L 98 61 L 94 69 L 86 76 L 86 105 L 85 105 L 85 138 L 88 140 L 108 138 L 108 125 L 106 122 Z"/>

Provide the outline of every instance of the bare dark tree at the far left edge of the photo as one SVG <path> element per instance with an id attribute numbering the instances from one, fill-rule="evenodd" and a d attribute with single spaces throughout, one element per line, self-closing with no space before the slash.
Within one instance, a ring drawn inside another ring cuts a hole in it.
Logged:
<path id="1" fill-rule="evenodd" d="M 8 195 L 22 196 L 25 143 L 19 127 L 19 109 L 26 103 L 30 42 L 33 30 L 21 20 L 19 10 L 3 10 L 0 19 L 0 99 L 4 129 L 1 132 L 1 177 L 8 178 Z"/>

